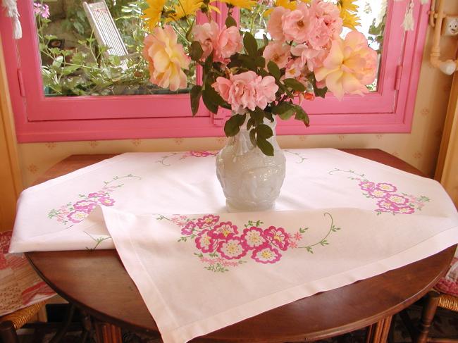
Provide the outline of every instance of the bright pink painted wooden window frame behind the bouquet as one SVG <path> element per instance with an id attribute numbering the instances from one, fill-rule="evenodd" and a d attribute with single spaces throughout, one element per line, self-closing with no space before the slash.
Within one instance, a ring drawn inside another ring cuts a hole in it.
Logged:
<path id="1" fill-rule="evenodd" d="M 197 117 L 192 118 L 187 94 L 45 98 L 41 62 L 33 53 L 38 47 L 30 4 L 32 0 L 18 1 L 23 23 L 23 38 L 18 41 L 11 38 L 11 20 L 0 16 L 18 142 L 223 135 L 221 126 L 229 111 L 213 115 L 201 104 Z M 389 1 L 377 92 L 364 97 L 346 96 L 343 101 L 334 96 L 305 101 L 311 126 L 279 120 L 278 135 L 409 132 L 428 6 L 416 6 L 415 30 L 405 35 L 401 28 L 404 11 L 404 2 Z"/>

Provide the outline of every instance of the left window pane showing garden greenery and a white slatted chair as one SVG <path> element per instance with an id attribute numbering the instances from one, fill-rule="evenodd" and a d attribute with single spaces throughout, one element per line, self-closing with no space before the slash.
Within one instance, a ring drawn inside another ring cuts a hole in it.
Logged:
<path id="1" fill-rule="evenodd" d="M 146 1 L 106 0 L 107 7 L 101 1 L 87 11 L 81 0 L 36 0 L 33 6 L 46 96 L 189 92 L 149 82 L 142 58 Z M 188 82 L 194 82 L 194 70 L 189 75 Z"/>

